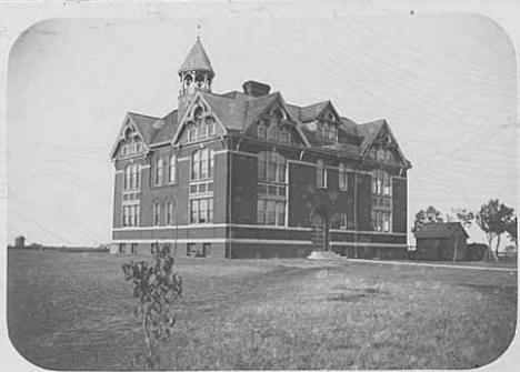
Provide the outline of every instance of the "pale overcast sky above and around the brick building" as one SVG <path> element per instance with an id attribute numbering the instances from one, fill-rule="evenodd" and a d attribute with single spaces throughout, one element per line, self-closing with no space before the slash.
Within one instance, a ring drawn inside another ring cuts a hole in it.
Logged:
<path id="1" fill-rule="evenodd" d="M 252 79 L 289 103 L 330 99 L 356 122 L 387 119 L 413 167 L 410 224 L 430 204 L 477 210 L 499 198 L 518 209 L 514 52 L 487 18 L 277 18 L 263 9 L 52 20 L 26 31 L 10 54 L 9 241 L 110 241 L 109 151 L 127 111 L 164 115 L 177 107 L 177 70 L 198 23 L 214 92 Z"/>

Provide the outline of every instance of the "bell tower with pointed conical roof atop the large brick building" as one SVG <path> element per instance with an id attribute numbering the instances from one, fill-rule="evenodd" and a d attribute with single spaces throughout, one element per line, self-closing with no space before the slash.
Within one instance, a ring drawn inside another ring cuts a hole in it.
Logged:
<path id="1" fill-rule="evenodd" d="M 180 119 L 198 91 L 211 92 L 214 72 L 199 36 L 178 73 L 180 79 L 178 118 Z"/>

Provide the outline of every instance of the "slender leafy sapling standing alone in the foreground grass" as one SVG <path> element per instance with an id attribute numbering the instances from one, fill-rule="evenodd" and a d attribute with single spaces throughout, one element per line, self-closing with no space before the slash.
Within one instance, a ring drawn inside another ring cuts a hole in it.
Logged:
<path id="1" fill-rule="evenodd" d="M 146 355 L 134 355 L 134 368 L 144 370 L 159 366 L 157 348 L 160 341 L 171 339 L 176 318 L 171 314 L 171 304 L 182 296 L 182 279 L 173 272 L 173 258 L 169 244 L 152 247 L 151 263 L 147 261 L 122 265 L 124 279 L 133 283 L 133 298 L 138 299 L 134 315 L 139 318 L 147 345 Z"/>

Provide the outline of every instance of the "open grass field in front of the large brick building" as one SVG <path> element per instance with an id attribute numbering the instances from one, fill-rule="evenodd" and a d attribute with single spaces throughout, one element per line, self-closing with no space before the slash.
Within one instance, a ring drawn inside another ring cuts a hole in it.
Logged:
<path id="1" fill-rule="evenodd" d="M 11 341 L 54 370 L 124 370 L 143 350 L 130 257 L 8 253 Z M 148 259 L 148 258 L 144 258 Z M 178 260 L 161 369 L 462 369 L 513 338 L 517 273 L 307 260 Z"/>

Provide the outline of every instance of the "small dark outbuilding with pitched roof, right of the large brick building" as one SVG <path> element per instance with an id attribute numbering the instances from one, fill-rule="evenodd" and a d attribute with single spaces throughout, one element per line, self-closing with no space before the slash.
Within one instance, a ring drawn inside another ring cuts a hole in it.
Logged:
<path id="1" fill-rule="evenodd" d="M 460 222 L 426 223 L 416 233 L 417 260 L 467 260 L 469 235 Z"/>

